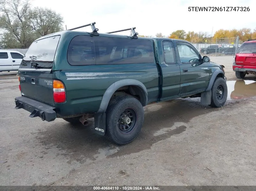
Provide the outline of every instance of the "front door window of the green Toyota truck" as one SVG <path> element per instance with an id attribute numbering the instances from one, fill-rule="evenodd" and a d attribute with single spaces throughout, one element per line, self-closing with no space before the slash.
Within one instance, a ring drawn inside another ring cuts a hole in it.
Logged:
<path id="1" fill-rule="evenodd" d="M 187 62 L 200 62 L 200 58 L 196 51 L 188 43 L 177 43 L 180 61 Z"/>

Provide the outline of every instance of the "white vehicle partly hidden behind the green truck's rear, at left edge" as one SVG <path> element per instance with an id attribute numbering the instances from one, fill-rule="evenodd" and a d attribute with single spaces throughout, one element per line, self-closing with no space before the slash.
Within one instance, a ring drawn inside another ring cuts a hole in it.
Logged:
<path id="1" fill-rule="evenodd" d="M 18 71 L 24 54 L 12 50 L 0 50 L 0 72 Z"/>

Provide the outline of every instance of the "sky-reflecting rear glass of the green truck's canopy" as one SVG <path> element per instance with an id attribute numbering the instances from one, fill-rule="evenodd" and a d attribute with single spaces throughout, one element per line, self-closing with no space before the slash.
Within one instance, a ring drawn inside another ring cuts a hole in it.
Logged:
<path id="1" fill-rule="evenodd" d="M 33 42 L 28 48 L 20 68 L 52 68 L 60 36 Z"/>

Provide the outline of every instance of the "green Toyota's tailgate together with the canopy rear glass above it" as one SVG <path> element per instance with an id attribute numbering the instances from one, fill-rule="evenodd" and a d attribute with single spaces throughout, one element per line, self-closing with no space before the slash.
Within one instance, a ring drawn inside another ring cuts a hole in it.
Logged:
<path id="1" fill-rule="evenodd" d="M 19 71 L 23 96 L 54 105 L 52 66 L 60 35 L 34 41 L 22 59 Z"/>

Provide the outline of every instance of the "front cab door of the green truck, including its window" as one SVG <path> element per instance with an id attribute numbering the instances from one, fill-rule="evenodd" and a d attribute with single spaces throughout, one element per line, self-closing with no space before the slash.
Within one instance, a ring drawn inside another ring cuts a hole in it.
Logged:
<path id="1" fill-rule="evenodd" d="M 210 69 L 202 63 L 201 55 L 189 43 L 177 42 L 178 63 L 181 72 L 179 95 L 205 90 L 209 83 Z"/>

